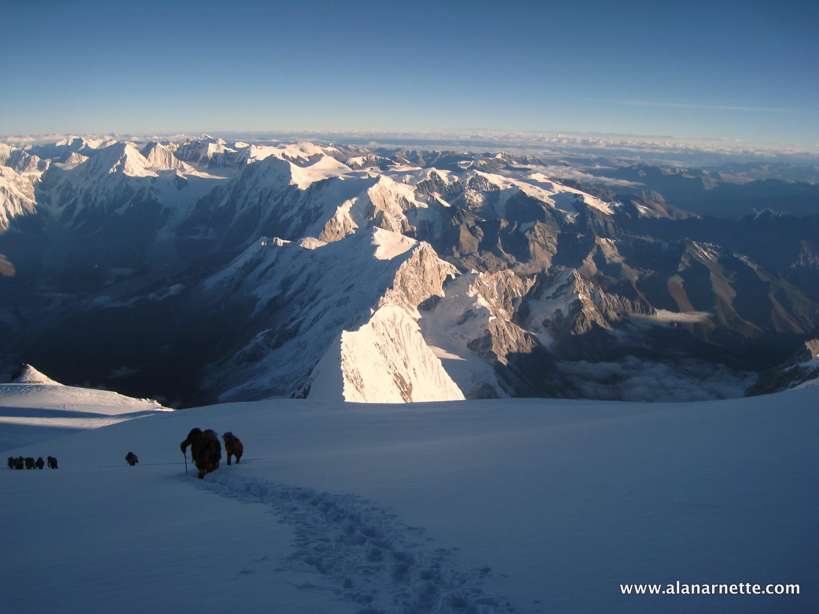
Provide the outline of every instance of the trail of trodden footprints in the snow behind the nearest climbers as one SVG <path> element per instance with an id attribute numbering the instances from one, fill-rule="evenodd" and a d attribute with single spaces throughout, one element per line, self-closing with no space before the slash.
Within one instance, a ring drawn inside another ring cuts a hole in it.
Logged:
<path id="1" fill-rule="evenodd" d="M 214 472 L 203 489 L 244 502 L 262 503 L 294 527 L 295 550 L 285 568 L 318 572 L 359 614 L 510 614 L 510 603 L 485 594 L 489 567 L 458 570 L 450 549 L 435 548 L 420 527 L 354 494 Z M 303 588 L 314 588 L 305 585 Z"/>

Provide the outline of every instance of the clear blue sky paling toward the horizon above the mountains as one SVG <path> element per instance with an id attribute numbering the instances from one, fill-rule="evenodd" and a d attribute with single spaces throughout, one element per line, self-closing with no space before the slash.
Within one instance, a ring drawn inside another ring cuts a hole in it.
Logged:
<path id="1" fill-rule="evenodd" d="M 815 148 L 817 32 L 817 0 L 0 0 L 0 134 L 503 129 Z"/>

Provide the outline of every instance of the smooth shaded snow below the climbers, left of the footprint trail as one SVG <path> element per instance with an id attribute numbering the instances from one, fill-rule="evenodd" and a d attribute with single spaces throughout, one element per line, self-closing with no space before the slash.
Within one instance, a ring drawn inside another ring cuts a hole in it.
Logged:
<path id="1" fill-rule="evenodd" d="M 355 612 L 328 590 L 299 588 L 313 574 L 271 577 L 292 528 L 262 506 L 186 487 L 195 469 L 169 476 L 169 467 L 144 458 L 133 468 L 123 460 L 98 469 L 63 460 L 37 476 L 9 472 L 4 484 L 4 500 L 19 508 L 16 530 L 3 540 L 3 612 L 144 614 L 181 603 L 219 612 L 236 604 L 244 612 Z"/>

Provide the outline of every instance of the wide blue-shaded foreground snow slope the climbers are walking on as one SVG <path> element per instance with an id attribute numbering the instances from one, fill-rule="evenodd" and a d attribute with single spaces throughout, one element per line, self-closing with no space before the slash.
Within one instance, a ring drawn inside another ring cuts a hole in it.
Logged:
<path id="1" fill-rule="evenodd" d="M 271 400 L 6 448 L 60 469 L 0 470 L 3 607 L 816 612 L 817 402 Z M 186 475 L 192 427 L 242 462 Z M 677 582 L 726 594 L 621 588 Z"/>

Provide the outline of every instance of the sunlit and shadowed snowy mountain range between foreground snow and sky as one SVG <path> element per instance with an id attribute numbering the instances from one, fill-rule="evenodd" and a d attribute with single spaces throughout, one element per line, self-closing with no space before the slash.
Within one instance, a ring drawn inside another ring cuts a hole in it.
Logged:
<path id="1" fill-rule="evenodd" d="M 0 145 L 0 370 L 177 406 L 695 400 L 817 336 L 819 220 L 776 213 L 787 190 L 708 218 L 672 180 L 585 191 L 554 169 L 207 135 Z"/>

